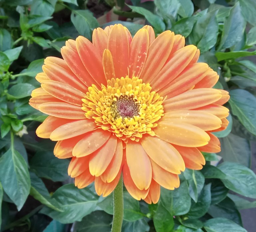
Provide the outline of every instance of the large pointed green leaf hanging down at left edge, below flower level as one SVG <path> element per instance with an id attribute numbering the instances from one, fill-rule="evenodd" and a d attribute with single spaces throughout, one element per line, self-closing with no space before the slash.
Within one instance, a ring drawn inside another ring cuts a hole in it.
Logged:
<path id="1" fill-rule="evenodd" d="M 0 158 L 0 166 L 3 189 L 20 210 L 30 190 L 27 163 L 18 151 L 9 149 Z"/>

